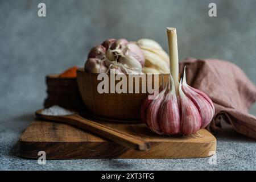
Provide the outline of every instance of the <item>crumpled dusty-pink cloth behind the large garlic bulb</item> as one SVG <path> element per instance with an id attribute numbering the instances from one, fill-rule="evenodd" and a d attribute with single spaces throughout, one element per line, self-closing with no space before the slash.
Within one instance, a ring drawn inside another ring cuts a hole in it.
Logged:
<path id="1" fill-rule="evenodd" d="M 187 82 L 208 94 L 216 113 L 207 129 L 221 127 L 220 115 L 234 130 L 256 139 L 256 117 L 248 112 L 256 101 L 256 86 L 237 65 L 216 59 L 188 58 L 180 63 L 180 73 L 186 65 Z"/>

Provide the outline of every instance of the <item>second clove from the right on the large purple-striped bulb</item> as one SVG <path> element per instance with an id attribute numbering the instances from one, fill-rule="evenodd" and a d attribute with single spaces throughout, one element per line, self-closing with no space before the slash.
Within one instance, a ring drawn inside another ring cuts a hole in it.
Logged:
<path id="1" fill-rule="evenodd" d="M 185 135 L 195 134 L 201 128 L 202 119 L 195 104 L 193 104 L 181 89 L 181 80 L 179 84 L 181 133 Z"/>

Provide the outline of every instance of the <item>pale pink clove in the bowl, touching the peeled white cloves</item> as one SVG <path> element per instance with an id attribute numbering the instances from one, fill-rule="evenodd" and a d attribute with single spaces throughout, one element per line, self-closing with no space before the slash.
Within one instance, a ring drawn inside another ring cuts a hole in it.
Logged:
<path id="1" fill-rule="evenodd" d="M 135 59 L 137 59 L 139 63 L 141 63 L 142 67 L 145 64 L 145 57 L 143 52 L 141 51 L 141 48 L 139 48 L 134 43 L 128 43 L 126 45 L 125 55 L 131 55 L 135 57 Z"/>

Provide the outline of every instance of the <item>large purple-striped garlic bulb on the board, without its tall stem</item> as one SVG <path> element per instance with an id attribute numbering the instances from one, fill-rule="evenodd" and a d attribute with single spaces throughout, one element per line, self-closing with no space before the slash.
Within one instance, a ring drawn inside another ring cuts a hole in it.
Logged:
<path id="1" fill-rule="evenodd" d="M 156 100 L 146 98 L 143 101 L 141 117 L 154 133 L 191 135 L 209 125 L 214 111 L 213 102 L 207 94 L 187 84 L 184 69 L 179 95 L 176 96 L 174 80 L 170 75 L 170 81 Z"/>

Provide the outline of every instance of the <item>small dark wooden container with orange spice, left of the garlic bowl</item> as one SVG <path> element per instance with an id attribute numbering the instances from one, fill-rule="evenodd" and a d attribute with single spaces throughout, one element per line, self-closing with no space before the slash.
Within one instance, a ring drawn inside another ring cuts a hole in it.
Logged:
<path id="1" fill-rule="evenodd" d="M 67 109 L 80 110 L 84 107 L 76 78 L 60 78 L 58 75 L 47 75 L 47 98 L 44 107 L 59 105 Z"/>

